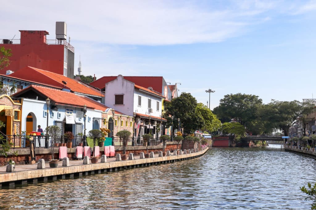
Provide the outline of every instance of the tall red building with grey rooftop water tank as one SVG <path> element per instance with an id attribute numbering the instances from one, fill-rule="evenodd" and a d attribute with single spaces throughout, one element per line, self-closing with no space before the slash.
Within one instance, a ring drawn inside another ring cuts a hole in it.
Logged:
<path id="1" fill-rule="evenodd" d="M 32 66 L 46 71 L 74 76 L 74 47 L 66 42 L 66 23 L 56 22 L 56 39 L 49 40 L 47 31 L 20 30 L 21 39 L 10 41 L 1 40 L 0 47 L 11 49 L 11 63 L 0 71 L 6 74 L 26 66 Z"/>

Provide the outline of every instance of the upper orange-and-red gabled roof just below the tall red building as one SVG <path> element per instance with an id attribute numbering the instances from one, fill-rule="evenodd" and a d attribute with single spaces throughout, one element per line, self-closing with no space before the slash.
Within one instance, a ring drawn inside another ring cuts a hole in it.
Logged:
<path id="1" fill-rule="evenodd" d="M 42 84 L 66 88 L 71 90 L 72 92 L 83 93 L 92 96 L 104 96 L 101 91 L 96 90 L 95 88 L 84 83 L 81 83 L 76 79 L 71 79 L 61 74 L 45 71 L 34 67 L 24 67 L 10 75 L 15 78 L 34 81 L 36 83 L 40 82 Z M 62 81 L 67 82 L 67 84 L 64 85 Z"/>

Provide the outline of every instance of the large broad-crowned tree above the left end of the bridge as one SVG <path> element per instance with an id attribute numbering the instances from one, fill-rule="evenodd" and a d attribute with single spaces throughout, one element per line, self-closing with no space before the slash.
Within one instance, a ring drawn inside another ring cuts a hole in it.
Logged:
<path id="1" fill-rule="evenodd" d="M 257 119 L 258 109 L 262 106 L 259 96 L 247 94 L 225 95 L 220 100 L 220 105 L 214 109 L 214 113 L 222 122 L 230 122 L 234 119 L 245 127 L 250 127 Z"/>

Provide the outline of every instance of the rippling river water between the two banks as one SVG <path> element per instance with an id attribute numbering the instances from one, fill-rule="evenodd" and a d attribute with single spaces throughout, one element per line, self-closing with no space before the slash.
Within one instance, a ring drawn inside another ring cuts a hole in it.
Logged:
<path id="1" fill-rule="evenodd" d="M 0 209 L 310 209 L 316 161 L 266 148 L 212 148 L 176 163 L 0 190 Z"/>

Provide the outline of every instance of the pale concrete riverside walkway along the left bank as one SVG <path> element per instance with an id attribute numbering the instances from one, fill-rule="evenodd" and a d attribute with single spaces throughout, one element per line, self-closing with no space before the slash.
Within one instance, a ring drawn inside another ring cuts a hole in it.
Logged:
<path id="1" fill-rule="evenodd" d="M 74 176 L 90 175 L 101 172 L 113 172 L 122 170 L 125 168 L 137 168 L 143 166 L 158 165 L 164 163 L 172 163 L 181 160 L 188 160 L 192 158 L 204 155 L 208 148 L 183 154 L 183 155 L 170 155 L 159 157 L 155 154 L 153 158 L 143 158 L 140 156 L 135 156 L 135 160 L 124 160 L 116 161 L 115 158 L 107 158 L 106 162 L 101 163 L 100 159 L 98 163 L 94 164 L 83 164 L 83 160 L 70 160 L 70 166 L 62 166 L 62 161 L 59 162 L 57 168 L 50 168 L 48 163 L 45 163 L 45 168 L 37 169 L 37 164 L 35 165 L 23 165 L 15 166 L 14 172 L 5 172 L 6 167 L 0 168 L 0 185 L 9 185 L 14 187 L 15 184 L 27 185 L 27 183 L 36 184 L 37 181 L 47 182 L 47 180 L 57 180 L 74 178 Z"/>

